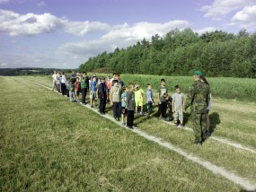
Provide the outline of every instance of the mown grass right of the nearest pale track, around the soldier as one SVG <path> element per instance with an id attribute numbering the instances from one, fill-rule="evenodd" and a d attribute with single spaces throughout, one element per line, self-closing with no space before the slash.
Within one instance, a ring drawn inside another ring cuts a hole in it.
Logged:
<path id="1" fill-rule="evenodd" d="M 154 94 L 154 98 L 156 99 L 156 94 Z M 108 109 L 111 110 L 111 107 L 109 106 Z M 157 107 L 154 106 L 154 112 L 156 110 Z M 209 114 L 211 118 L 211 129 L 214 131 L 213 135 L 221 136 L 255 149 L 255 114 L 255 103 L 214 99 L 213 107 Z M 191 127 L 189 110 L 185 114 L 185 117 L 187 120 L 189 118 L 186 125 Z M 243 177 L 251 178 L 255 181 L 255 154 L 244 153 L 243 150 L 234 150 L 234 147 L 219 144 L 213 140 L 207 140 L 205 144 L 206 150 L 197 152 L 197 150 L 194 151 L 194 149 L 190 148 L 190 141 L 193 137 L 192 133 L 173 128 L 156 119 L 147 119 L 145 117 L 137 117 L 136 123 L 147 133 L 164 138 L 172 144 L 177 144 L 188 151 L 193 151 L 193 153 L 196 153 L 203 159 L 209 159 L 218 166 L 225 166 L 227 170 L 234 170 L 234 172 L 243 175 Z M 228 155 L 226 155 L 227 153 Z M 250 163 L 247 163 L 247 161 L 250 161 Z"/>

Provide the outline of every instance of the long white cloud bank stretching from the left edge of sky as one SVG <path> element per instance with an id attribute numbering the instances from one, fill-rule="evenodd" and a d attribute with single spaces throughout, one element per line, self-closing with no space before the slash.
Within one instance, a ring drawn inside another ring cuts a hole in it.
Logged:
<path id="1" fill-rule="evenodd" d="M 18 14 L 12 11 L 0 10 L 0 32 L 10 36 L 31 36 L 39 33 L 63 30 L 75 36 L 84 36 L 93 31 L 104 31 L 110 27 L 102 22 L 72 22 L 57 18 L 50 13 Z"/>

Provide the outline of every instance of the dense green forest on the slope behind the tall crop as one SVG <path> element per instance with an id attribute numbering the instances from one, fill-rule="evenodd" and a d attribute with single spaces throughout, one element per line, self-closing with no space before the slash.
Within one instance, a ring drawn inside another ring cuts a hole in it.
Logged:
<path id="1" fill-rule="evenodd" d="M 106 51 L 79 66 L 79 71 L 121 74 L 191 75 L 256 78 L 256 33 L 225 31 L 199 35 L 190 29 L 158 34 L 128 48 Z"/>

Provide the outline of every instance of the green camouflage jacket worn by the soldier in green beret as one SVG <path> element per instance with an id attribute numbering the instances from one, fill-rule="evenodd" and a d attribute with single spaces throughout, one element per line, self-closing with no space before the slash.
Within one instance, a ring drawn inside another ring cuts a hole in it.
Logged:
<path id="1" fill-rule="evenodd" d="M 185 109 L 191 106 L 191 112 L 206 113 L 210 100 L 209 92 L 209 86 L 206 83 L 201 81 L 192 83 L 185 101 Z"/>

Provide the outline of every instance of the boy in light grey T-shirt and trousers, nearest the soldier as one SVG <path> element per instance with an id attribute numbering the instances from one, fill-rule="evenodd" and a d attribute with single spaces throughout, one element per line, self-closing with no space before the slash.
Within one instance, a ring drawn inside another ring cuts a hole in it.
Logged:
<path id="1" fill-rule="evenodd" d="M 172 95 L 172 111 L 175 126 L 179 126 L 178 119 L 183 127 L 183 108 L 184 108 L 184 94 L 181 93 L 179 85 L 174 87 L 175 93 Z"/>

